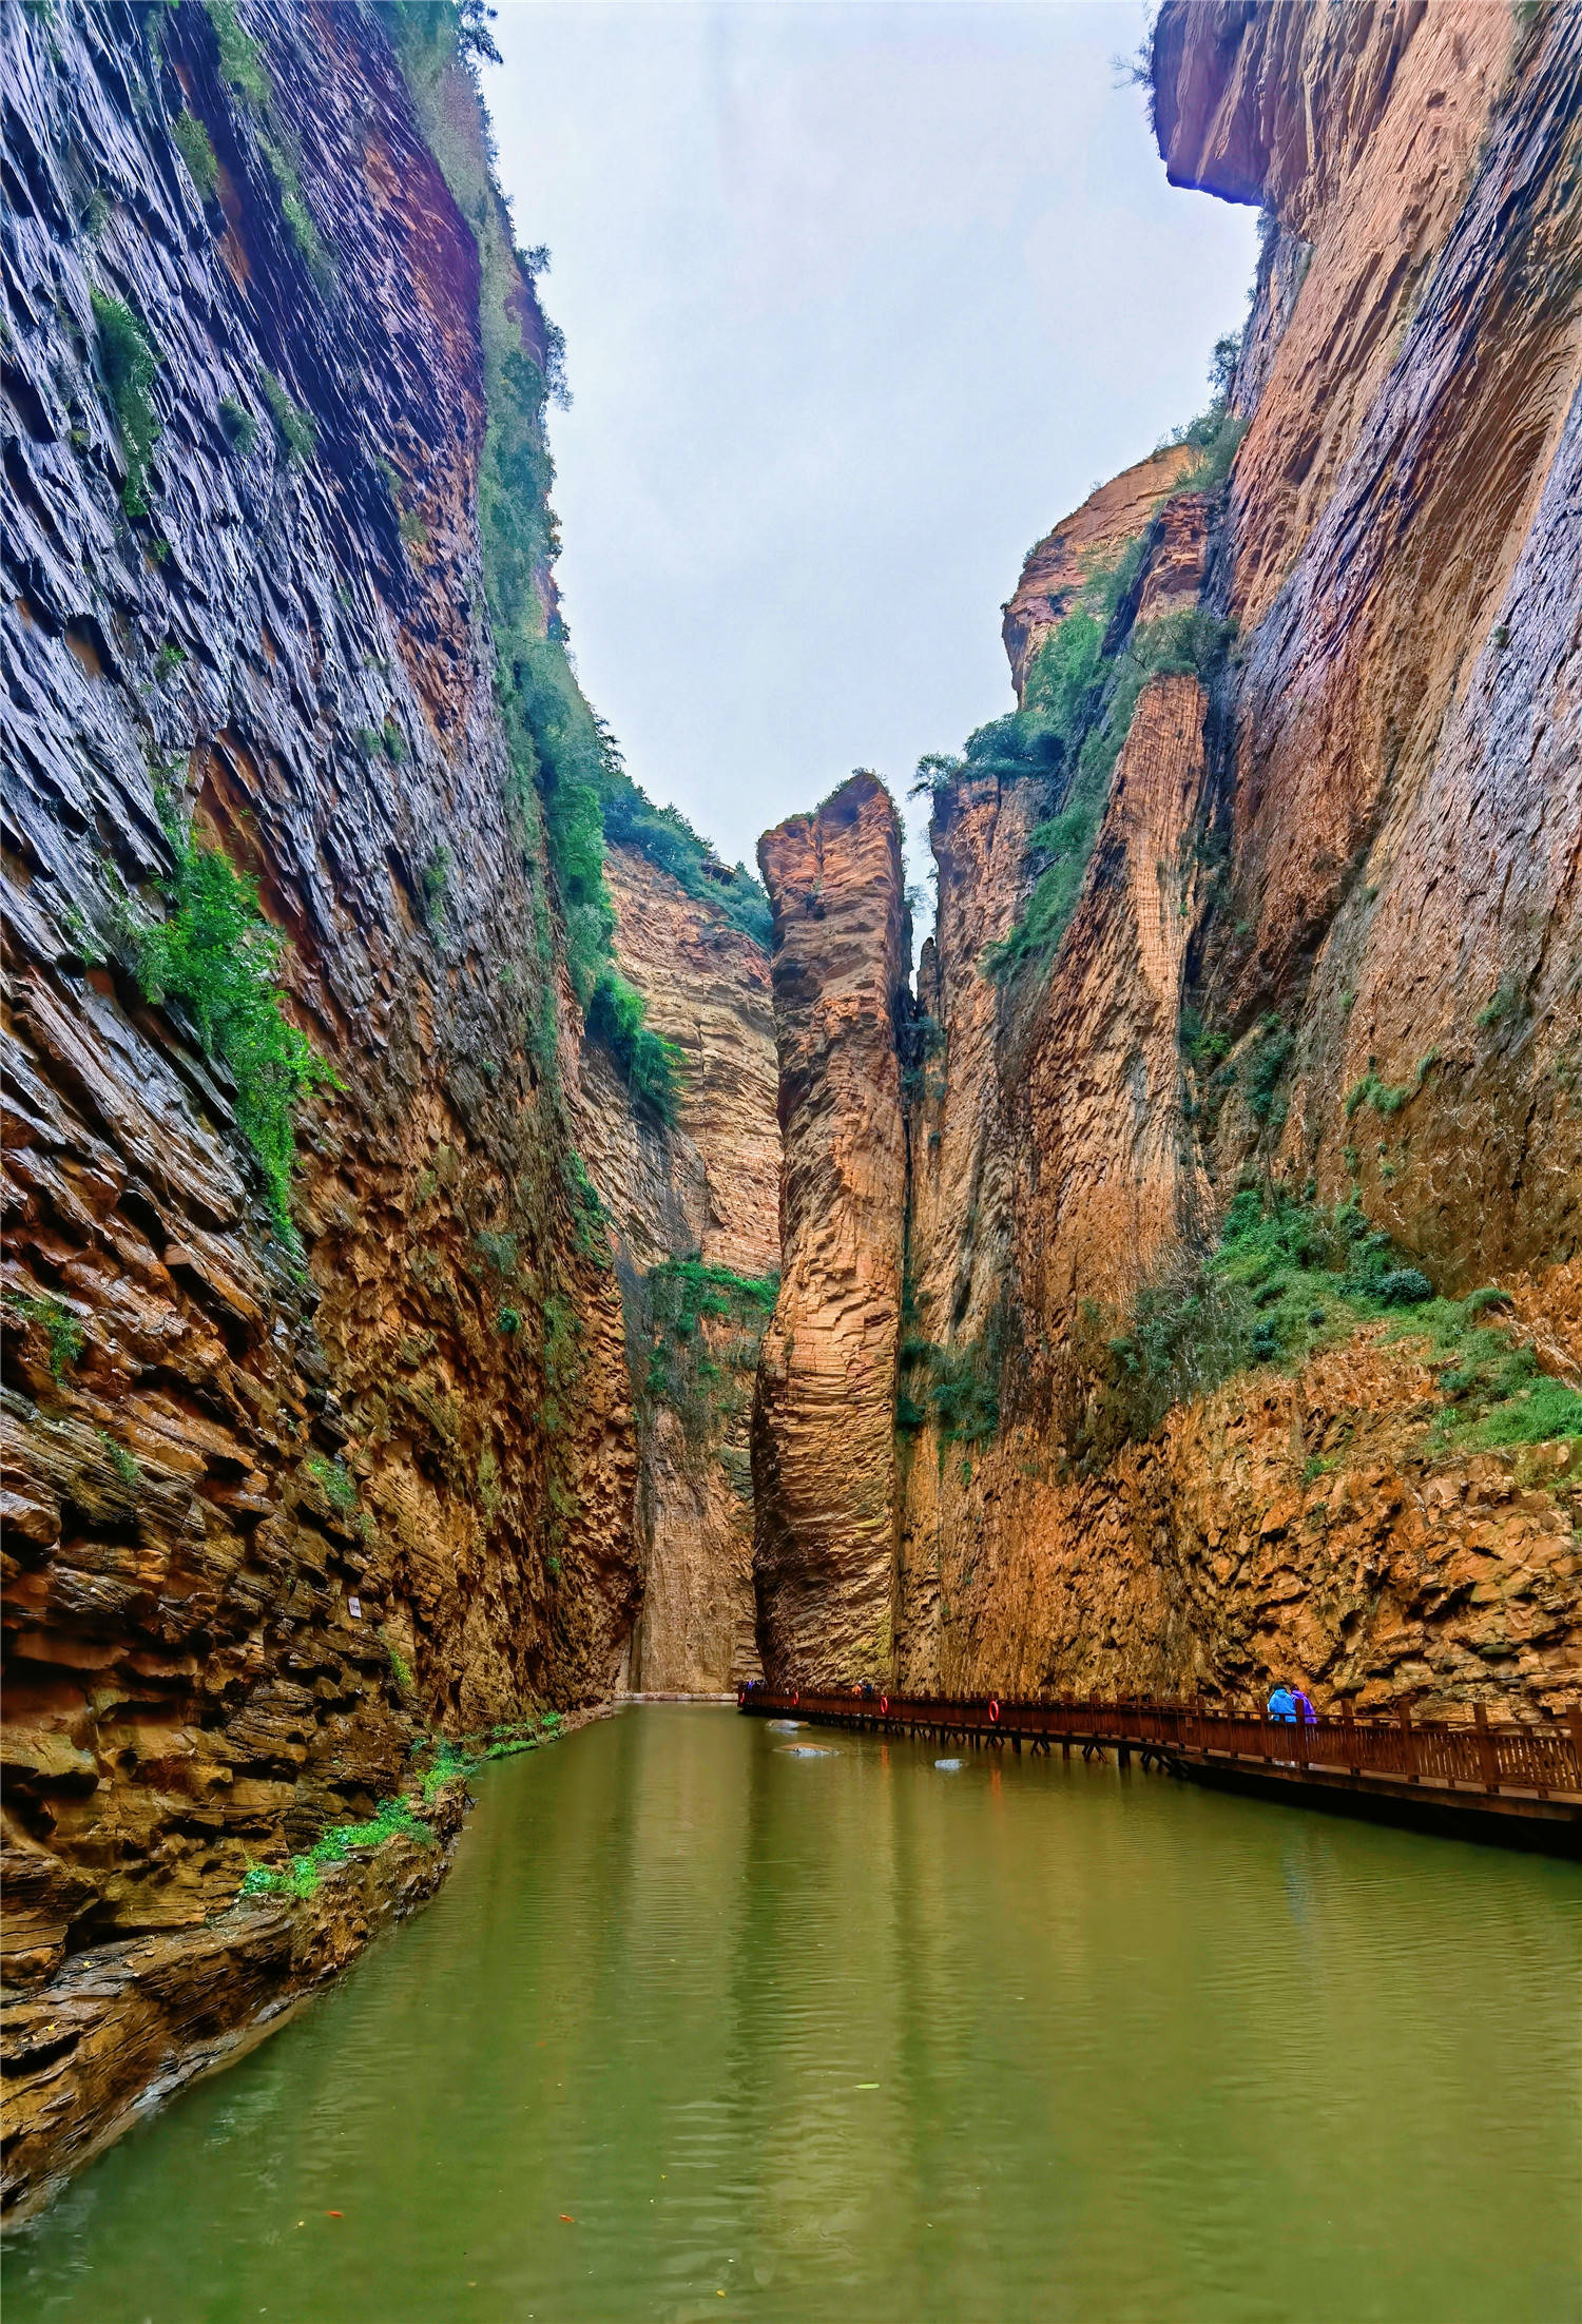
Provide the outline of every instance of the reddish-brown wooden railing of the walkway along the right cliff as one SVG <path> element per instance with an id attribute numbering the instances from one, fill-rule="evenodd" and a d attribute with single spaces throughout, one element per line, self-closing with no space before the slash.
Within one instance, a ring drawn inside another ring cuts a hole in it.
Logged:
<path id="1" fill-rule="evenodd" d="M 866 1727 L 925 1731 L 962 1741 L 1041 1748 L 1099 1743 L 1159 1759 L 1241 1762 L 1282 1773 L 1343 1776 L 1464 1792 L 1529 1794 L 1582 1801 L 1582 1706 L 1561 1720 L 1512 1724 L 1489 1720 L 1482 1703 L 1470 1720 L 1315 1717 L 1271 1720 L 1266 1713 L 1203 1710 L 1199 1703 L 1155 1701 L 1001 1701 L 990 1694 L 839 1694 L 797 1687 L 739 1687 L 743 1710 Z"/>

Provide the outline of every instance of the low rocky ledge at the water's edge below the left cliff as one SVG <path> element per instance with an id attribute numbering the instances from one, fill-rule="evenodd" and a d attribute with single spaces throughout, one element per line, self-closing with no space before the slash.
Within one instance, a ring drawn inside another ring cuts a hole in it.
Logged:
<path id="1" fill-rule="evenodd" d="M 569 1710 L 558 1738 L 618 1708 Z M 197 1929 L 93 1945 L 37 1992 L 7 1992 L 5 2233 L 37 2219 L 132 2124 L 279 2033 L 372 1938 L 425 1906 L 455 1862 L 476 1773 L 423 1803 L 430 1843 L 397 1834 L 328 1864 L 311 1896 L 239 1896 Z"/>

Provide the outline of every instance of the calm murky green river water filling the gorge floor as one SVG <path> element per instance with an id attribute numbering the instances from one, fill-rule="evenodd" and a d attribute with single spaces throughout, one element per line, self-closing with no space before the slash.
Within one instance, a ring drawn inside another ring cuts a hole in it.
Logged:
<path id="1" fill-rule="evenodd" d="M 499 1764 L 5 2324 L 1582 2315 L 1582 1868 L 934 1759 L 655 1706 Z"/>

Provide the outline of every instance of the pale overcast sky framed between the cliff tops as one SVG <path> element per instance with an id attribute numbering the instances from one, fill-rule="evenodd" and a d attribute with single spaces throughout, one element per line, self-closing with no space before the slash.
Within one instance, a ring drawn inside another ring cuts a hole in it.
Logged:
<path id="1" fill-rule="evenodd" d="M 1120 0 L 499 7 L 571 651 L 727 860 L 1011 709 L 1022 555 L 1206 402 L 1254 214 L 1166 186 L 1113 86 L 1141 35 Z"/>

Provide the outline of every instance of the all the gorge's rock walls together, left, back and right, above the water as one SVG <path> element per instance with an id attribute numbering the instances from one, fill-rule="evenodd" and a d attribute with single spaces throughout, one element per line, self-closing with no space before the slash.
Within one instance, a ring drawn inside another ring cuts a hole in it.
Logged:
<path id="1" fill-rule="evenodd" d="M 2 5 L 7 2215 L 623 1697 L 1582 1701 L 1577 5 L 1164 0 L 915 964 L 583 697 L 486 12 Z"/>

